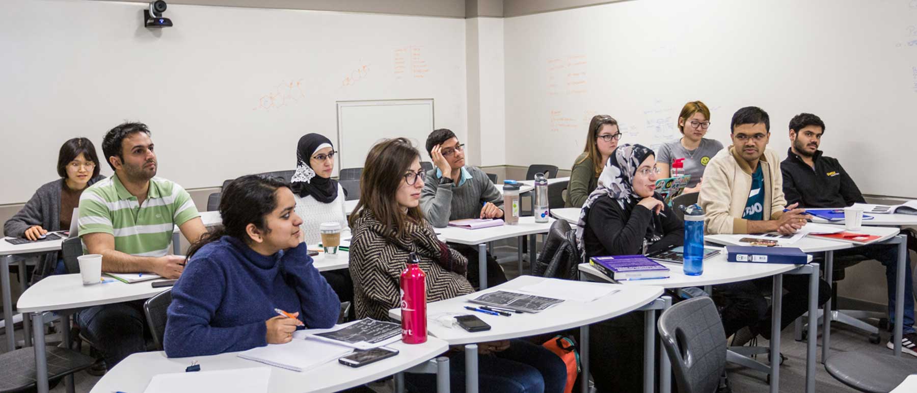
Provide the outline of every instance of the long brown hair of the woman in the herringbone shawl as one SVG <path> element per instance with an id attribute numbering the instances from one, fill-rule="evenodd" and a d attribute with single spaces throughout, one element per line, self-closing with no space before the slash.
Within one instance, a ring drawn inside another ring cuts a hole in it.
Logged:
<path id="1" fill-rule="evenodd" d="M 420 152 L 405 138 L 381 140 L 372 146 L 359 178 L 359 202 L 353 213 L 350 213 L 351 228 L 355 227 L 364 208 L 392 228 L 399 238 L 406 233 L 409 221 L 420 223 L 424 219 L 419 206 L 409 208 L 405 215 L 395 199 L 403 174 L 411 169 L 411 164 L 417 159 L 420 159 Z"/>

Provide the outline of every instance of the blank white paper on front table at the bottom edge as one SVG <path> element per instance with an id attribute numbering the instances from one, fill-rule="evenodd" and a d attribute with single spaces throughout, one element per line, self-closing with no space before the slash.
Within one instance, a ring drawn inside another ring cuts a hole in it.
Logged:
<path id="1" fill-rule="evenodd" d="M 271 367 L 159 374 L 149 381 L 144 393 L 267 393 L 270 380 Z"/>

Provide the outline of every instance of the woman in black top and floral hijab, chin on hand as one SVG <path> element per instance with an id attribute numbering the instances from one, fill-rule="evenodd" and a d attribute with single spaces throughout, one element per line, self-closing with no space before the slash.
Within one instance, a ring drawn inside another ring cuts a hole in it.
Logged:
<path id="1" fill-rule="evenodd" d="M 643 145 L 624 144 L 612 152 L 580 211 L 576 234 L 585 258 L 641 254 L 684 242 L 684 224 L 654 192 L 657 174 L 653 151 Z"/>

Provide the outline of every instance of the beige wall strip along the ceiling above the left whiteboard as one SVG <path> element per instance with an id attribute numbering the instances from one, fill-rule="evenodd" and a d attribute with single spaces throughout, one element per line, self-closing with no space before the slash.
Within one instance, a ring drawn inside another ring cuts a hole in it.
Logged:
<path id="1" fill-rule="evenodd" d="M 170 6 L 241 6 L 418 17 L 465 17 L 466 6 L 465 0 L 166 0 L 166 2 Z M 501 6 L 503 5 L 501 4 Z M 169 11 L 166 10 L 165 14 L 165 17 L 168 17 Z"/>

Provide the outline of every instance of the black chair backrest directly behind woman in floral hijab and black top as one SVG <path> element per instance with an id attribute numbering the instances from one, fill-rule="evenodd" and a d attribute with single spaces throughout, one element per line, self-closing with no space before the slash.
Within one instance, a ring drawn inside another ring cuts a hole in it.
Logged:
<path id="1" fill-rule="evenodd" d="M 576 231 L 558 219 L 551 224 L 547 239 L 535 262 L 535 275 L 567 280 L 577 279 L 580 250 L 576 246 Z"/>

